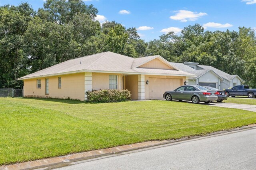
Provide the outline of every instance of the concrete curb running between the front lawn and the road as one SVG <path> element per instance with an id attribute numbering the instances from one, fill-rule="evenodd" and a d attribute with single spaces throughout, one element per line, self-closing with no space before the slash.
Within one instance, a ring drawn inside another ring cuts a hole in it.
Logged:
<path id="1" fill-rule="evenodd" d="M 206 134 L 203 136 L 212 136 L 215 134 L 222 134 L 222 133 L 226 133 L 226 132 L 232 132 L 232 131 L 236 131 L 236 130 L 242 130 L 242 129 L 253 128 L 253 127 L 256 127 L 256 124 L 248 125 L 248 126 L 244 126 L 244 127 L 240 127 L 240 128 L 233 128 L 230 130 L 213 132 L 213 133 Z M 159 145 L 163 145 L 163 144 L 169 144 L 169 143 L 179 142 L 182 140 L 199 138 L 199 137 L 203 137 L 203 136 L 198 135 L 198 136 L 184 137 L 184 138 L 177 139 L 177 140 L 153 140 L 153 141 L 148 141 L 148 142 L 134 143 L 134 144 L 117 146 L 117 147 L 100 149 L 100 150 L 92 150 L 92 151 L 88 151 L 88 152 L 69 154 L 66 156 L 59 156 L 59 157 L 55 157 L 55 158 L 47 158 L 47 159 L 42 159 L 42 160 L 34 160 L 34 161 L 30 161 L 30 162 L 22 162 L 22 163 L 17 163 L 17 164 L 0 166 L 0 170 L 32 170 L 32 169 L 38 169 L 38 168 L 47 168 L 49 166 L 56 166 L 56 165 L 60 165 L 60 164 L 64 165 L 67 163 L 70 164 L 70 162 L 87 160 L 87 159 L 97 158 L 97 157 L 101 157 L 101 156 L 107 156 L 107 155 L 111 155 L 111 154 L 118 154 L 118 153 L 122 153 L 122 152 L 138 150 L 138 149 L 142 149 L 142 148 L 149 148 L 149 147 L 153 147 L 153 146 L 159 146 Z"/>

